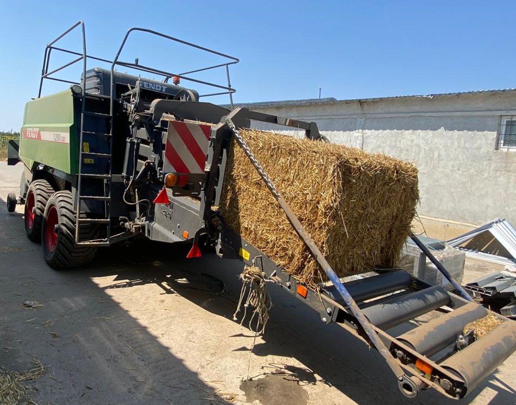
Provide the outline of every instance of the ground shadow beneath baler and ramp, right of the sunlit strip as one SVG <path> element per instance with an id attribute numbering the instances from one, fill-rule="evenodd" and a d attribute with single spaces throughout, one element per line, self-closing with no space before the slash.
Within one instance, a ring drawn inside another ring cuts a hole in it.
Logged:
<path id="1" fill-rule="evenodd" d="M 238 274 L 242 269 L 241 262 L 222 260 L 211 252 L 204 252 L 203 257 L 199 259 L 186 259 L 186 253 L 190 248 L 188 243 L 164 245 L 140 241 L 134 244 L 144 246 L 140 250 L 146 253 L 139 256 L 137 262 L 129 264 L 138 268 L 145 266 L 146 262 L 152 262 L 153 267 L 144 274 L 139 270 L 126 270 L 112 285 L 105 288 L 130 288 L 139 283 L 156 283 L 165 291 L 180 294 L 214 314 L 227 319 L 233 318 L 235 301 L 241 286 L 238 280 Z M 113 263 L 117 263 L 118 260 L 127 261 L 128 259 L 123 258 L 127 257 L 126 254 L 117 253 L 117 250 L 124 249 L 133 248 L 115 248 L 110 252 L 103 252 L 98 259 L 102 258 L 106 264 L 111 260 Z M 118 262 L 118 265 L 120 264 Z M 192 268 L 197 273 L 188 271 Z M 89 276 L 93 275 L 90 273 Z M 217 278 L 223 281 L 224 290 Z M 338 325 L 322 324 L 318 313 L 291 295 L 283 293 L 280 288 L 270 286 L 268 292 L 274 307 L 263 336 L 265 342 L 257 343 L 253 354 L 263 358 L 269 355 L 293 357 L 307 368 L 289 364 L 266 364 L 262 367 L 261 373 L 251 376 L 253 380 L 264 376 L 283 375 L 282 378 L 296 381 L 298 385 L 334 386 L 361 405 L 414 403 L 414 400 L 405 398 L 398 391 L 390 369 L 375 350 L 367 348 Z M 244 329 L 238 336 L 248 336 L 250 342 L 249 345 L 235 350 L 249 351 L 253 333 Z M 495 382 L 504 388 L 495 385 Z M 465 404 L 474 400 L 486 387 L 496 391 L 494 398 L 489 402 L 492 405 L 514 402 L 514 389 L 499 380 L 496 372 L 460 401 L 445 398 L 433 390 L 420 393 L 415 401 L 422 404 Z"/>

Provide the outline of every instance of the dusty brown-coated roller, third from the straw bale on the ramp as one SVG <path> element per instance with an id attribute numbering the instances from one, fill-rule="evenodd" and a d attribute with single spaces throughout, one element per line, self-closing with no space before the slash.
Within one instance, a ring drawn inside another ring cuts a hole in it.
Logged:
<path id="1" fill-rule="evenodd" d="M 429 357 L 454 343 L 464 326 L 486 315 L 486 308 L 476 303 L 469 303 L 418 326 L 397 339 L 417 353 Z"/>

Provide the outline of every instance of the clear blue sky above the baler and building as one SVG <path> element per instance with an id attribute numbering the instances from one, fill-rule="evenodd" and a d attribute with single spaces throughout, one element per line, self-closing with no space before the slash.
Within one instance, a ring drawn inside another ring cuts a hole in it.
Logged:
<path id="1" fill-rule="evenodd" d="M 316 98 L 319 87 L 322 97 L 345 99 L 516 86 L 513 1 L 120 3 L 0 0 L 0 130 L 20 128 L 25 102 L 37 96 L 45 44 L 79 19 L 88 53 L 106 59 L 132 26 L 239 58 L 231 68 L 235 102 Z M 78 36 L 60 45 L 80 50 Z M 218 63 L 143 34 L 122 57 L 174 73 Z M 63 72 L 79 75 L 78 66 Z M 223 71 L 201 78 L 225 80 Z"/>

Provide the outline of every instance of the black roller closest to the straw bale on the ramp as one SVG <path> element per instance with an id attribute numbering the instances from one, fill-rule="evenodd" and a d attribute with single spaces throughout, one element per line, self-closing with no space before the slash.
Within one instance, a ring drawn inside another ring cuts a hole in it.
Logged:
<path id="1" fill-rule="evenodd" d="M 344 287 L 346 287 L 351 294 L 353 300 L 359 302 L 402 290 L 409 287 L 411 284 L 411 275 L 405 270 L 397 270 L 377 276 L 348 281 L 348 283 L 344 283 Z M 331 292 L 334 297 L 338 296 L 334 286 L 325 287 L 325 289 Z"/>

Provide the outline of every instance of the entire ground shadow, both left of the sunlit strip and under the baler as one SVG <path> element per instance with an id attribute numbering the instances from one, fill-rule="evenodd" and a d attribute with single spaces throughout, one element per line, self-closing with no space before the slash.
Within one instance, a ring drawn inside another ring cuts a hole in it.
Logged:
<path id="1" fill-rule="evenodd" d="M 232 300 L 240 288 L 237 276 L 241 262 L 222 260 L 207 252 L 202 258 L 187 260 L 187 243 L 135 241 L 100 251 L 88 267 L 54 271 L 42 263 L 39 246 L 25 239 L 19 217 L 7 215 L 2 203 L 0 248 L 6 246 L 11 250 L 3 253 L 0 249 L 0 336 L 3 347 L 14 349 L 0 351 L 0 365 L 21 371 L 30 360 L 26 353 L 51 364 L 49 378 L 33 384 L 39 392 L 34 397 L 36 402 L 228 402 L 227 398 L 212 394 L 211 386 L 201 381 L 182 359 L 174 357 L 107 292 L 156 284 L 166 295 L 179 294 L 215 315 L 232 319 L 236 307 Z M 191 270 L 208 276 L 192 274 Z M 92 281 L 94 277 L 106 276 L 115 279 L 102 288 Z M 218 279 L 223 281 L 224 289 Z M 271 286 L 268 291 L 274 307 L 264 343 L 257 343 L 253 353 L 264 359 L 269 355 L 295 358 L 305 368 L 265 361 L 260 370 L 252 371 L 251 383 L 256 384 L 241 386 L 249 399 L 264 401 L 266 397 L 257 396 L 256 388 L 260 384 L 277 386 L 276 380 L 280 378 L 300 386 L 333 386 L 361 405 L 469 403 L 486 387 L 496 392 L 490 404 L 514 402 L 516 394 L 511 387 L 495 385 L 504 385 L 496 373 L 460 401 L 448 400 L 433 391 L 422 392 L 415 401 L 409 400 L 398 391 L 389 368 L 375 350 L 369 350 L 337 325 L 325 326 L 315 311 L 279 288 Z M 23 309 L 20 304 L 26 299 L 39 299 L 44 307 L 35 311 Z M 163 295 L 156 295 L 156 300 L 160 299 Z M 49 319 L 53 322 L 51 330 L 43 325 Z M 217 316 L 213 322 L 217 322 Z M 27 324 L 33 326 L 30 333 L 26 332 Z M 247 337 L 249 344 L 234 350 L 249 351 L 253 334 L 243 329 L 238 336 Z M 264 376 L 267 380 L 259 380 Z M 269 376 L 275 380 L 269 381 Z M 214 399 L 204 399 L 208 395 Z M 302 394 L 298 399 L 296 403 L 302 405 Z M 319 403 L 317 398 L 311 399 L 310 403 Z"/>

